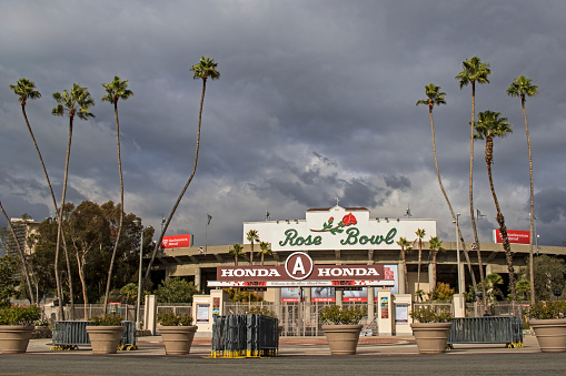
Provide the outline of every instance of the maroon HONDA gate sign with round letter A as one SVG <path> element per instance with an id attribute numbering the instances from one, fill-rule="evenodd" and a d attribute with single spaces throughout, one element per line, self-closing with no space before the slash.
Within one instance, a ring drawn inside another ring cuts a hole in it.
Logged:
<path id="1" fill-rule="evenodd" d="M 287 257 L 285 266 L 218 266 L 209 287 L 393 286 L 384 265 L 315 265 L 304 252 Z"/>

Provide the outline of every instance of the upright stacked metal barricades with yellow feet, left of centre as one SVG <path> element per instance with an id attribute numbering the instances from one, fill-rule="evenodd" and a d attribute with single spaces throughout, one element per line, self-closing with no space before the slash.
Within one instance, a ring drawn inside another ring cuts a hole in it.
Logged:
<path id="1" fill-rule="evenodd" d="M 212 357 L 261 357 L 277 355 L 279 321 L 258 314 L 215 316 Z"/>

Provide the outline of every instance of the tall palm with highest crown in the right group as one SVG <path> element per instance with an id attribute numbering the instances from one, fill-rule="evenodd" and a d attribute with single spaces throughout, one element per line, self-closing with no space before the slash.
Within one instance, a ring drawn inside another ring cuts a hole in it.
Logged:
<path id="1" fill-rule="evenodd" d="M 487 79 L 491 74 L 489 63 L 483 63 L 478 57 L 466 59 L 463 62 L 464 70 L 456 75 L 456 80 L 459 80 L 460 90 L 461 88 L 470 84 L 471 85 L 471 122 L 470 122 L 470 135 L 469 135 L 469 216 L 471 219 L 471 228 L 474 231 L 474 242 L 477 251 L 477 262 L 479 264 L 479 281 L 481 283 L 481 296 L 484 298 L 484 306 L 486 304 L 486 288 L 484 283 L 484 263 L 481 262 L 481 250 L 479 246 L 479 240 L 477 236 L 476 220 L 474 216 L 474 132 L 475 132 L 475 113 L 476 113 L 476 82 L 489 83 Z M 475 291 L 477 292 L 477 289 Z"/>

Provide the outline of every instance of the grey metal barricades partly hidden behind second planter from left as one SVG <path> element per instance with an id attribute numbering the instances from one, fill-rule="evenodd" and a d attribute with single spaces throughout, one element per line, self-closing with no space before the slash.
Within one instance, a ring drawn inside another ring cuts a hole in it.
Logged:
<path id="1" fill-rule="evenodd" d="M 90 338 L 87 333 L 89 322 L 54 322 L 52 331 L 53 346 L 83 346 L 90 345 Z M 121 322 L 126 326 L 120 345 L 136 345 L 136 323 Z"/>

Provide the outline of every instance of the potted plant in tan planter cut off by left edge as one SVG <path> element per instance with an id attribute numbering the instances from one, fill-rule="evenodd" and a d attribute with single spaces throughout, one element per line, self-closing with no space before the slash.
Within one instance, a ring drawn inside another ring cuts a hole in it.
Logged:
<path id="1" fill-rule="evenodd" d="M 0 350 L 2 354 L 26 353 L 33 332 L 33 322 L 41 311 L 36 305 L 12 305 L 0 309 Z"/>

